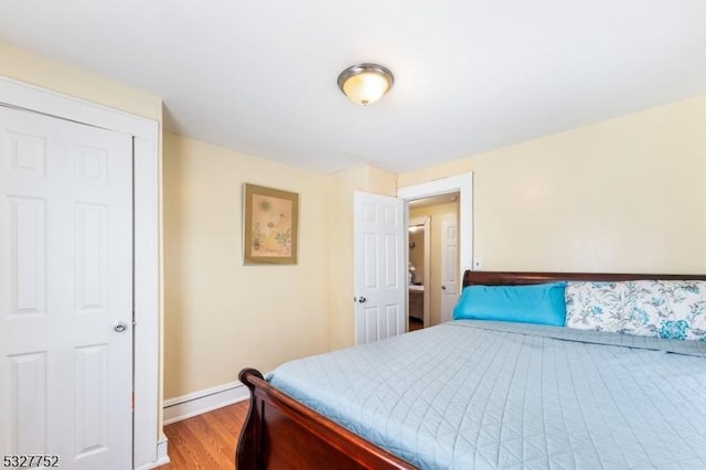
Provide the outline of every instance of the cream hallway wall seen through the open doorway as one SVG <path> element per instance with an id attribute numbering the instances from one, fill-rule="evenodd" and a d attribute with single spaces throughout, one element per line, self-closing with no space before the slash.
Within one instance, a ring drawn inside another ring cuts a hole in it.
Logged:
<path id="1" fill-rule="evenodd" d="M 437 204 L 428 207 L 413 209 L 409 218 L 430 217 L 430 254 L 429 286 L 425 287 L 425 296 L 429 296 L 429 325 L 441 322 L 441 221 L 445 217 L 458 218 L 458 203 Z"/>

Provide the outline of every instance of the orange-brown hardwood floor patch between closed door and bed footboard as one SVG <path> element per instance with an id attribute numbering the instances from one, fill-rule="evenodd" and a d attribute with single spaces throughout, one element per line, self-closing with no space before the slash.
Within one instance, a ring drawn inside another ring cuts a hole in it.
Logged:
<path id="1" fill-rule="evenodd" d="M 247 406 L 244 400 L 165 426 L 171 462 L 158 470 L 234 469 Z"/>

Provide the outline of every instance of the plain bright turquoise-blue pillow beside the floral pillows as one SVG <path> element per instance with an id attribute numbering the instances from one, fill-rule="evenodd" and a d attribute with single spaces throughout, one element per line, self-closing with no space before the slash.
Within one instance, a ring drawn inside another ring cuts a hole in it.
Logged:
<path id="1" fill-rule="evenodd" d="M 453 309 L 453 320 L 495 320 L 566 324 L 566 282 L 532 286 L 468 286 Z"/>

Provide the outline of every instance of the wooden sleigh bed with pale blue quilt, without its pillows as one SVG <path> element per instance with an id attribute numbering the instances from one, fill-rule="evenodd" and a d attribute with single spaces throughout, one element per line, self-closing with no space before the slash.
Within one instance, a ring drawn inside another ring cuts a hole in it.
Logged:
<path id="1" fill-rule="evenodd" d="M 706 276 L 467 271 L 463 286 L 654 279 Z M 458 320 L 239 380 L 242 470 L 706 468 L 706 341 Z"/>

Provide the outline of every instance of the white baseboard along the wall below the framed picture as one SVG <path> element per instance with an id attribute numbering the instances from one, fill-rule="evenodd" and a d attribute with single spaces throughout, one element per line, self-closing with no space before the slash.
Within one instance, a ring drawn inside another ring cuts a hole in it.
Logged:
<path id="1" fill-rule="evenodd" d="M 243 383 L 235 381 L 216 387 L 164 400 L 164 425 L 233 405 L 250 397 Z"/>

